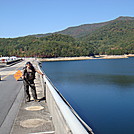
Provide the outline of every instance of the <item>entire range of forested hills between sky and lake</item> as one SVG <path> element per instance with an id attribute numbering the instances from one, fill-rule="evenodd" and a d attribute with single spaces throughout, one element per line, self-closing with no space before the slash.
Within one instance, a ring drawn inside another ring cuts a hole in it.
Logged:
<path id="1" fill-rule="evenodd" d="M 53 34 L 0 38 L 0 55 L 3 56 L 60 57 L 128 53 L 134 53 L 134 17 L 119 17 Z"/>

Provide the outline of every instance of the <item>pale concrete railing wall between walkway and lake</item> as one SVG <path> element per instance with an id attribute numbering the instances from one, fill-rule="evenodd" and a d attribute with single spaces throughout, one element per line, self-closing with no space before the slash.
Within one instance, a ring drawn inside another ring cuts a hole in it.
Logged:
<path id="1" fill-rule="evenodd" d="M 55 134 L 94 134 L 46 75 L 43 80 L 48 109 L 55 126 Z"/>

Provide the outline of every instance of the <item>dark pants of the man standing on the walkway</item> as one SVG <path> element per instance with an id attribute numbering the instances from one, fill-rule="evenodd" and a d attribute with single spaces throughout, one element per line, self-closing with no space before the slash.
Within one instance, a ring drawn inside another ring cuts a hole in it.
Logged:
<path id="1" fill-rule="evenodd" d="M 29 87 L 31 87 L 32 96 L 37 99 L 36 88 L 34 80 L 24 80 L 24 97 L 26 100 L 30 100 Z"/>

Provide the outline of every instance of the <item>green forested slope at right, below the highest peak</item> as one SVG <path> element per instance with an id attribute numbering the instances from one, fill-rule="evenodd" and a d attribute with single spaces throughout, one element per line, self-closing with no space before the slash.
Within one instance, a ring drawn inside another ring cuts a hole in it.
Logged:
<path id="1" fill-rule="evenodd" d="M 134 53 L 134 20 L 117 19 L 80 40 L 93 44 L 99 54 Z"/>

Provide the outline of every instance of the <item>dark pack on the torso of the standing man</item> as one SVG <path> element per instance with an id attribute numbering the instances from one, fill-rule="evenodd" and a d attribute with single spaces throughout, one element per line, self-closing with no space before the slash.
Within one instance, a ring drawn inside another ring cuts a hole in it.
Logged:
<path id="1" fill-rule="evenodd" d="M 28 72 L 27 68 L 24 67 L 24 76 L 27 80 L 34 80 L 35 79 L 35 73 L 36 73 L 35 68 L 32 66 L 30 68 L 30 70 L 32 70 L 32 72 Z"/>

